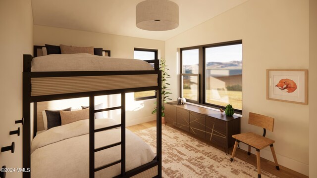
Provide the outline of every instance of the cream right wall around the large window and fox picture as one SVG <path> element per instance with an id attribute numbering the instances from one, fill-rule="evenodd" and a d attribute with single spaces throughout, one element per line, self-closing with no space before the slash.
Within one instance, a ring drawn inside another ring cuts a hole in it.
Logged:
<path id="1" fill-rule="evenodd" d="M 305 175 L 309 174 L 309 106 L 266 100 L 266 69 L 309 69 L 308 12 L 308 0 L 249 0 L 165 42 L 173 76 L 169 83 L 177 84 L 172 86 L 175 100 L 180 95 L 177 48 L 242 39 L 241 132 L 263 132 L 248 125 L 249 112 L 274 117 L 274 132 L 266 135 L 276 142 L 279 164 Z M 273 161 L 269 148 L 261 156 Z"/>

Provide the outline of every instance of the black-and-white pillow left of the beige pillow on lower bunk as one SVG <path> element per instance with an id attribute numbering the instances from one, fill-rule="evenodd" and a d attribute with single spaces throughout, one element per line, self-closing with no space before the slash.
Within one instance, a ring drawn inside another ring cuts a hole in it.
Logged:
<path id="1" fill-rule="evenodd" d="M 60 110 L 44 110 L 42 111 L 43 114 L 43 122 L 45 130 L 49 130 L 56 126 L 61 126 L 61 119 L 60 119 Z M 70 108 L 63 109 L 63 111 L 71 111 Z"/>

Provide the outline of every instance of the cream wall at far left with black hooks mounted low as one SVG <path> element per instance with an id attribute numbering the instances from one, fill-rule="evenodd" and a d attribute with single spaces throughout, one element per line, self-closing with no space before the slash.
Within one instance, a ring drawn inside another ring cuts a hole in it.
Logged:
<path id="1" fill-rule="evenodd" d="M 0 167 L 22 168 L 22 134 L 14 124 L 22 117 L 23 54 L 33 53 L 33 17 L 31 0 L 0 0 L 0 147 L 15 142 L 15 152 L 0 153 Z M 22 174 L 7 173 L 7 178 Z"/>

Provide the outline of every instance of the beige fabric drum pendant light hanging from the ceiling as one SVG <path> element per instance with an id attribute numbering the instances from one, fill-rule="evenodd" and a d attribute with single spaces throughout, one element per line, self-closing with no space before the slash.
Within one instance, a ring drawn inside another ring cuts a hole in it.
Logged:
<path id="1" fill-rule="evenodd" d="M 170 0 L 145 0 L 136 6 L 136 26 L 165 31 L 178 27 L 178 5 Z"/>

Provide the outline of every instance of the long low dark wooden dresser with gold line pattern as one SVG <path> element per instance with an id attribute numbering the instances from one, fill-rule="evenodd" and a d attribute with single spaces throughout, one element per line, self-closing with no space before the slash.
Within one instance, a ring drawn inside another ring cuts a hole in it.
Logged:
<path id="1" fill-rule="evenodd" d="M 174 127 L 195 134 L 213 144 L 229 149 L 233 134 L 240 134 L 240 117 L 226 116 L 218 111 L 191 104 L 165 103 L 165 121 Z"/>

